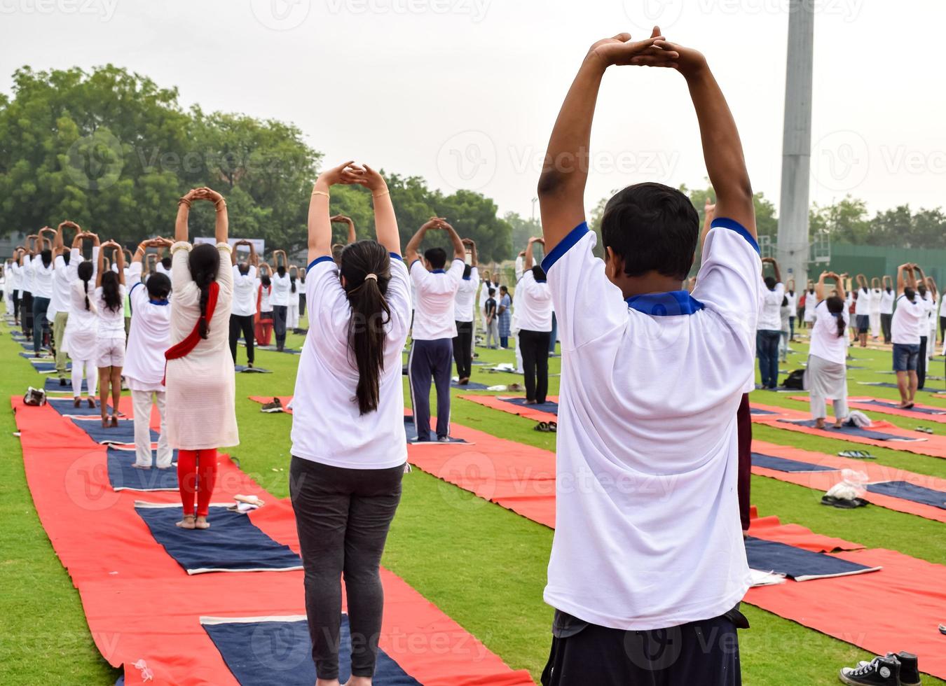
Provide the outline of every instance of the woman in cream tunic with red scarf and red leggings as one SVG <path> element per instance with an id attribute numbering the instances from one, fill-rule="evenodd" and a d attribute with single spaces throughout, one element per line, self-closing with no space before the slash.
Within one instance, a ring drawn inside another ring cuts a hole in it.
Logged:
<path id="1" fill-rule="evenodd" d="M 216 246 L 187 242 L 187 217 L 197 200 L 212 203 L 217 211 Z M 217 449 L 239 442 L 229 346 L 234 281 L 223 197 L 209 188 L 195 188 L 182 197 L 174 238 L 171 346 L 165 352 L 167 438 L 170 447 L 178 450 L 178 488 L 184 508 L 178 526 L 206 529 L 217 479 Z"/>

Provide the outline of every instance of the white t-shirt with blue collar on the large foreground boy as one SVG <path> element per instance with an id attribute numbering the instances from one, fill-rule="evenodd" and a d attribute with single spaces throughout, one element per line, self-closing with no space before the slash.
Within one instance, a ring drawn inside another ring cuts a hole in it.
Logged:
<path id="1" fill-rule="evenodd" d="M 713 226 L 692 296 L 623 300 L 584 223 L 542 262 L 562 343 L 545 600 L 599 626 L 709 619 L 748 588 L 736 411 L 762 262 L 743 227 Z"/>

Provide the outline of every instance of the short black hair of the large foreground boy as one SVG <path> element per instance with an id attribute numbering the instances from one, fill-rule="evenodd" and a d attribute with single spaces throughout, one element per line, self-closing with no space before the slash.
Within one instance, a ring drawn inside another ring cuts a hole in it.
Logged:
<path id="1" fill-rule="evenodd" d="M 683 281 L 693 264 L 699 226 L 690 198 L 662 183 L 636 183 L 604 205 L 602 243 L 623 259 L 627 276 L 653 270 Z"/>

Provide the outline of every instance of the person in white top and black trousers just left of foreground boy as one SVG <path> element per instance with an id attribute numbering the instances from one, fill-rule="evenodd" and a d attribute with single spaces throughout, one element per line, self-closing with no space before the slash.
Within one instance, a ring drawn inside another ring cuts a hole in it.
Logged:
<path id="1" fill-rule="evenodd" d="M 530 238 L 522 278 L 516 286 L 519 346 L 526 386 L 526 404 L 543 404 L 549 393 L 549 338 L 552 336 L 552 290 L 541 266 L 533 266 L 533 246 L 542 238 Z"/>

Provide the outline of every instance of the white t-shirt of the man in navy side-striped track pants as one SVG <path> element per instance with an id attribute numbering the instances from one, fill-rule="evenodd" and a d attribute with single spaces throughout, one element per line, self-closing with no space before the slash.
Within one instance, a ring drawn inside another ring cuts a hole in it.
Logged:
<path id="1" fill-rule="evenodd" d="M 417 293 L 414 302 L 413 340 L 439 340 L 457 335 L 454 296 L 464 278 L 464 261 L 454 260 L 447 271 L 428 271 L 420 260 L 411 266 Z"/>

